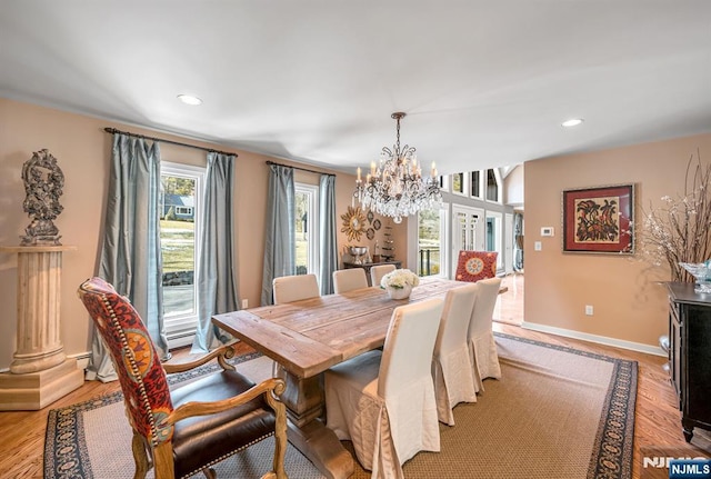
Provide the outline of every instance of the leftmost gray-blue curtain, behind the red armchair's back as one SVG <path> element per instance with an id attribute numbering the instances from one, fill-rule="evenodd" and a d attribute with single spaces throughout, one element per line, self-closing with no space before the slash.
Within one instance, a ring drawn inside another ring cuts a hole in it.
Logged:
<path id="1" fill-rule="evenodd" d="M 163 329 L 163 290 L 159 226 L 160 147 L 116 133 L 99 276 L 129 298 L 159 350 L 170 358 Z M 88 379 L 117 379 L 98 333 L 92 338 Z"/>

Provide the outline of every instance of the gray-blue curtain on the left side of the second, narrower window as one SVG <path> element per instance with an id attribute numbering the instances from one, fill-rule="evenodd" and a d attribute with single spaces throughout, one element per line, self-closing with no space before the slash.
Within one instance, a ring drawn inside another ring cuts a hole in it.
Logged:
<path id="1" fill-rule="evenodd" d="M 274 278 L 296 273 L 293 168 L 280 164 L 269 166 L 267 201 L 262 306 L 273 305 L 272 280 Z"/>

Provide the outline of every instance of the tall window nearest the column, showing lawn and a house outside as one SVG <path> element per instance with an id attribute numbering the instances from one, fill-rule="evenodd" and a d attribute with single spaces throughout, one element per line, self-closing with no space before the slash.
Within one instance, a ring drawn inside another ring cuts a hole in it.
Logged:
<path id="1" fill-rule="evenodd" d="M 198 323 L 197 268 L 204 168 L 161 163 L 160 248 L 163 320 L 170 347 L 192 342 Z"/>

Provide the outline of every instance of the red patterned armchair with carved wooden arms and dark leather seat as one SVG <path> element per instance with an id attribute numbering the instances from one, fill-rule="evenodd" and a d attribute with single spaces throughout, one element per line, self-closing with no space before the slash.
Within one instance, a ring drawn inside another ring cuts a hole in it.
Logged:
<path id="1" fill-rule="evenodd" d="M 151 466 L 157 479 L 199 471 L 214 478 L 211 466 L 271 436 L 276 437 L 273 468 L 262 478 L 287 478 L 287 416 L 277 399 L 284 390 L 281 379 L 254 386 L 226 361 L 234 353 L 229 346 L 190 363 L 163 366 L 140 316 L 111 285 L 91 278 L 78 295 L 119 376 L 133 429 L 134 478 L 144 478 Z M 216 358 L 222 370 L 169 390 L 167 372 L 182 372 Z"/>

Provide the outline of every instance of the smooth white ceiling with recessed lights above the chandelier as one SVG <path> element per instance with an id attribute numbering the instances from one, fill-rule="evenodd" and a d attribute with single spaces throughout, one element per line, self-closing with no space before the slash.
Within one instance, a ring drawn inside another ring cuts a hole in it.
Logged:
<path id="1" fill-rule="evenodd" d="M 710 87 L 709 0 L 0 0 L 0 97 L 344 171 L 393 111 L 450 173 L 709 132 Z"/>

